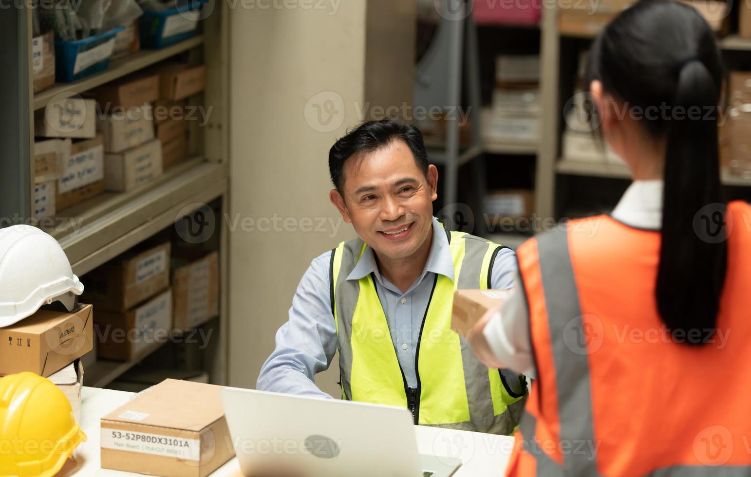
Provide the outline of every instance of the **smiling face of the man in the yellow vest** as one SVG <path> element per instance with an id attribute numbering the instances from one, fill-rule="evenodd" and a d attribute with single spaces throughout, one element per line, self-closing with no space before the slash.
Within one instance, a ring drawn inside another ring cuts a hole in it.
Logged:
<path id="1" fill-rule="evenodd" d="M 410 257 L 432 233 L 433 200 L 438 198 L 438 170 L 427 177 L 405 142 L 351 158 L 344 165 L 342 196 L 331 202 L 366 244 L 391 259 Z"/>

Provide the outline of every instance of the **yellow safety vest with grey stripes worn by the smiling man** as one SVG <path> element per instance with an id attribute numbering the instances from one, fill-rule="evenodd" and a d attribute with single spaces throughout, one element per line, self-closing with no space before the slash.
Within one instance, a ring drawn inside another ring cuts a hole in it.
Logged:
<path id="1" fill-rule="evenodd" d="M 524 395 L 514 395 L 504 380 L 523 377 L 488 370 L 472 353 L 469 343 L 451 330 L 454 291 L 486 290 L 493 261 L 502 246 L 466 233 L 447 235 L 454 259 L 454 281 L 436 275 L 422 321 L 415 350 L 415 423 L 511 434 L 523 411 Z M 409 387 L 375 290 L 375 279 L 372 275 L 358 281 L 346 279 L 365 249 L 360 239 L 342 242 L 331 259 L 342 398 L 408 407 Z"/>

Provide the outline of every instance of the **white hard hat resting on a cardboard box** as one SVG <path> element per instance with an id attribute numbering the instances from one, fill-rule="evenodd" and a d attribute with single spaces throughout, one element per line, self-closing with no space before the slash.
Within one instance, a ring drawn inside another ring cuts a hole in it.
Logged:
<path id="1" fill-rule="evenodd" d="M 0 328 L 54 301 L 71 311 L 82 292 L 83 284 L 52 236 L 30 225 L 0 229 Z"/>

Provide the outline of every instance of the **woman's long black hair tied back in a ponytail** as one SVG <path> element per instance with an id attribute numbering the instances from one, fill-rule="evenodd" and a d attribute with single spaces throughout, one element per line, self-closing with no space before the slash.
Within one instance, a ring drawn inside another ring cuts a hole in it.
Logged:
<path id="1" fill-rule="evenodd" d="M 696 227 L 701 214 L 726 212 L 717 137 L 723 73 L 713 32 L 692 7 L 641 0 L 596 38 L 587 70 L 588 83 L 600 80 L 629 107 L 669 107 L 668 115 L 642 121 L 651 136 L 665 139 L 655 297 L 674 335 L 701 336 L 680 342 L 703 344 L 716 328 L 727 268 L 725 236 Z"/>

